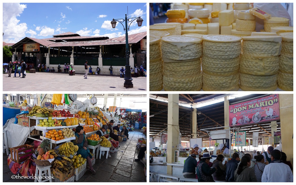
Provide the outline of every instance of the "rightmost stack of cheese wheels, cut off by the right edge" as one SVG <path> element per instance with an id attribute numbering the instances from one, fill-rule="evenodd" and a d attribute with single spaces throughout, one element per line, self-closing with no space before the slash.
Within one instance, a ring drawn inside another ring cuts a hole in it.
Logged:
<path id="1" fill-rule="evenodd" d="M 278 87 L 293 91 L 293 33 L 281 33 L 282 49 L 279 56 Z"/>

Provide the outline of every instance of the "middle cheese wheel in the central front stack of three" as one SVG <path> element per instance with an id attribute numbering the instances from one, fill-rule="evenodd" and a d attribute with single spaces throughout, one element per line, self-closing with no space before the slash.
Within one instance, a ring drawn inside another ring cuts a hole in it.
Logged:
<path id="1" fill-rule="evenodd" d="M 214 76 L 229 76 L 237 74 L 239 72 L 239 57 L 219 59 L 202 55 L 202 71 Z"/>

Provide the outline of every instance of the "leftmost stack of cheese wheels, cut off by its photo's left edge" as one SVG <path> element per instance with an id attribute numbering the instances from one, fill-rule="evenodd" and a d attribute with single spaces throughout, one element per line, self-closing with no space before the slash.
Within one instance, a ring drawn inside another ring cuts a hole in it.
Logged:
<path id="1" fill-rule="evenodd" d="M 163 60 L 161 59 L 161 38 L 149 34 L 149 89 L 160 91 L 163 89 Z"/>

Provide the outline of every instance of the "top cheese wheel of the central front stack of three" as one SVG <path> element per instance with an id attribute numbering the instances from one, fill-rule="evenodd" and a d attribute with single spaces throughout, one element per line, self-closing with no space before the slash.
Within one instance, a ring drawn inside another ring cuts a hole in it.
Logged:
<path id="1" fill-rule="evenodd" d="M 242 49 L 241 38 L 232 35 L 202 36 L 202 53 L 211 58 L 229 59 L 239 57 Z"/>

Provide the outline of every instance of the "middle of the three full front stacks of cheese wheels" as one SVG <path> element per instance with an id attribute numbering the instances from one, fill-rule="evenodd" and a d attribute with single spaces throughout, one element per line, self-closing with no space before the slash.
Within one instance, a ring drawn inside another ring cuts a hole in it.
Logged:
<path id="1" fill-rule="evenodd" d="M 202 40 L 202 89 L 237 91 L 241 38 L 232 35 L 205 35 Z"/>

